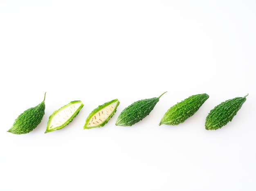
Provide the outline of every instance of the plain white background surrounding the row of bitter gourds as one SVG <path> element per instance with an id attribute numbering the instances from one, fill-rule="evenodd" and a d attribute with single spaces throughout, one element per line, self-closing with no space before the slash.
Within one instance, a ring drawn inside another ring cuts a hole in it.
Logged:
<path id="1" fill-rule="evenodd" d="M 0 0 L 0 190 L 255 191 L 256 2 L 254 0 Z M 132 127 L 120 112 L 158 97 Z M 29 134 L 7 132 L 45 99 Z M 178 126 L 159 126 L 177 102 L 209 99 Z M 207 131 L 222 101 L 247 101 L 222 129 Z M 101 128 L 90 112 L 119 99 Z M 44 134 L 70 101 L 84 107 L 62 130 Z"/>

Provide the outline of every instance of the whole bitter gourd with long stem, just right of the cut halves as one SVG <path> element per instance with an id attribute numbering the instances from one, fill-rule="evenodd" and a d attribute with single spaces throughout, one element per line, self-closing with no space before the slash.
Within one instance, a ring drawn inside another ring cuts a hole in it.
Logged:
<path id="1" fill-rule="evenodd" d="M 163 94 L 165 93 L 166 92 L 164 92 Z M 116 125 L 132 126 L 135 123 L 141 121 L 150 114 L 150 112 L 159 101 L 159 98 L 163 94 L 161 94 L 159 97 L 135 101 L 119 114 Z"/>

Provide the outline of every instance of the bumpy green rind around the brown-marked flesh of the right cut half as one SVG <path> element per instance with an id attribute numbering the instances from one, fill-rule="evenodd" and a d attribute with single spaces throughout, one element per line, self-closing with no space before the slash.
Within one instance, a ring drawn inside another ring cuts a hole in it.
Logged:
<path id="1" fill-rule="evenodd" d="M 95 125 L 93 127 L 88 127 L 87 125 L 90 123 L 90 119 L 92 118 L 92 116 L 94 116 L 96 113 L 98 113 L 100 110 L 102 110 L 103 108 L 107 107 L 108 105 L 117 102 L 117 105 L 115 106 L 114 110 L 112 111 L 112 113 L 110 114 L 110 116 L 108 116 L 108 118 L 101 123 L 100 125 Z M 103 127 L 106 123 L 108 123 L 108 121 L 112 118 L 112 116 L 115 114 L 115 112 L 117 111 L 117 107 L 119 105 L 119 100 L 118 99 L 114 99 L 112 101 L 108 101 L 106 103 L 103 103 L 103 105 L 99 105 L 97 108 L 95 108 L 87 117 L 86 121 L 85 121 L 85 125 L 83 127 L 83 129 L 92 129 L 92 128 L 96 128 L 96 127 Z"/>

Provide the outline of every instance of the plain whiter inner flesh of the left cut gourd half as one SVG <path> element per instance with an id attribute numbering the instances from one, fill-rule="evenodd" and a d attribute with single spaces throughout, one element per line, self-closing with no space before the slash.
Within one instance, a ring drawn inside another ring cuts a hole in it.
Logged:
<path id="1" fill-rule="evenodd" d="M 71 118 L 71 116 L 76 112 L 76 110 L 81 106 L 81 103 L 74 103 L 63 110 L 59 111 L 55 114 L 51 121 L 51 125 L 49 128 L 52 129 L 54 127 L 58 127 L 63 125 L 67 120 Z"/>

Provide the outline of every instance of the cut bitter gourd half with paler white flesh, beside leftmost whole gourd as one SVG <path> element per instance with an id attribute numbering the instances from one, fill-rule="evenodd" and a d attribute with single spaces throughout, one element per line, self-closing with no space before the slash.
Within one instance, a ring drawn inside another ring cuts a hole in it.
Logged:
<path id="1" fill-rule="evenodd" d="M 49 116 L 45 133 L 60 130 L 68 125 L 83 108 L 82 101 L 71 101 Z"/>

